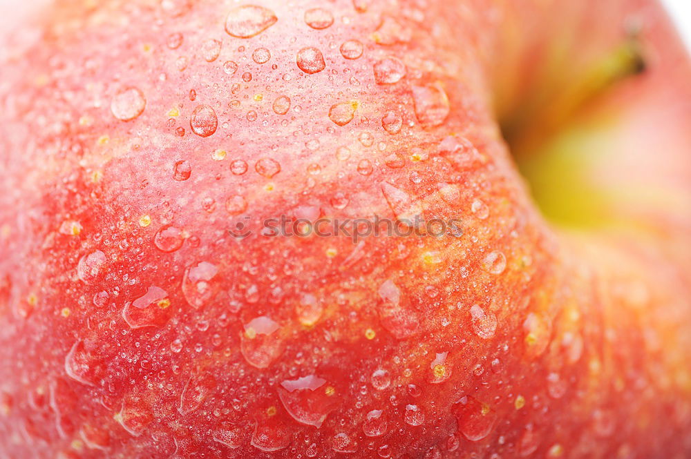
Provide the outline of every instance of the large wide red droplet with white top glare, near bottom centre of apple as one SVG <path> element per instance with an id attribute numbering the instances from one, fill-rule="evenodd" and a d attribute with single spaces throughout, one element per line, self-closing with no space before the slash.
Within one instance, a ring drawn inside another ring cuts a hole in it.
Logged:
<path id="1" fill-rule="evenodd" d="M 281 382 L 278 398 L 294 420 L 316 428 L 321 427 L 338 404 L 333 387 L 316 375 Z"/>

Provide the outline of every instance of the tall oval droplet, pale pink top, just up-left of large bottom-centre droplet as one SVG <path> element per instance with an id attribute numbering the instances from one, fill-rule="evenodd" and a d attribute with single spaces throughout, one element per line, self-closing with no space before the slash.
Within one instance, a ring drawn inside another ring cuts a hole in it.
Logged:
<path id="1" fill-rule="evenodd" d="M 283 339 L 276 333 L 281 326 L 261 315 L 244 326 L 240 333 L 240 351 L 247 363 L 256 368 L 267 368 L 283 352 Z"/>

